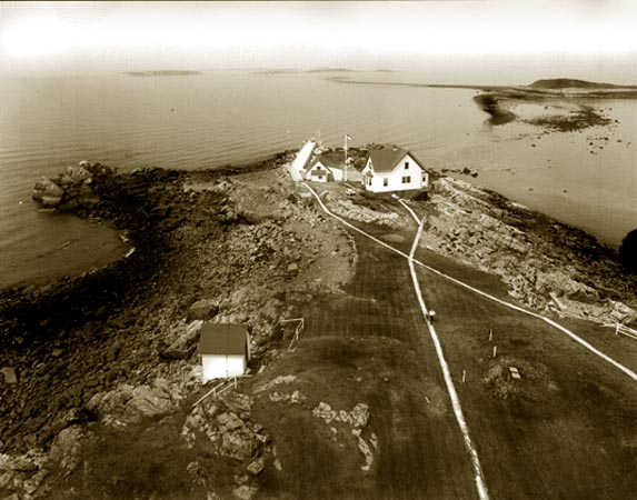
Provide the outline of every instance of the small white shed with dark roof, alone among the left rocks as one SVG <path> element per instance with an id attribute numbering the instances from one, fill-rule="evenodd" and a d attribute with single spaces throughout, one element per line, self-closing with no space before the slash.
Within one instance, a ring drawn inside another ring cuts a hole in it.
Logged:
<path id="1" fill-rule="evenodd" d="M 250 359 L 250 336 L 243 324 L 205 321 L 199 338 L 203 382 L 239 377 Z"/>

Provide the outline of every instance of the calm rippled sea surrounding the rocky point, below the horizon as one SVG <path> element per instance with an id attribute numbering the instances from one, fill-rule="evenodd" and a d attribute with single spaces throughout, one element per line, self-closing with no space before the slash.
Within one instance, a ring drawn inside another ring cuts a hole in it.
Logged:
<path id="1" fill-rule="evenodd" d="M 486 124 L 472 90 L 325 77 L 0 79 L 0 287 L 81 272 L 126 251 L 102 226 L 39 212 L 30 194 L 40 176 L 80 160 L 122 170 L 241 164 L 299 147 L 319 131 L 327 146 L 340 146 L 347 132 L 351 146 L 394 142 L 430 168 L 476 169 L 475 182 L 610 244 L 637 227 L 635 101 L 593 102 L 619 120 L 613 128 L 537 139 L 540 130 L 531 126 Z"/>

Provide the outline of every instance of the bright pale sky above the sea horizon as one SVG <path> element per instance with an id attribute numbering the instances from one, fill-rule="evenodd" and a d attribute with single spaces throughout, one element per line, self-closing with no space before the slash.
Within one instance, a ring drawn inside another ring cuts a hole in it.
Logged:
<path id="1" fill-rule="evenodd" d="M 637 83 L 635 27 L 635 0 L 2 1 L 0 70 L 462 68 L 475 80 L 533 67 Z"/>

